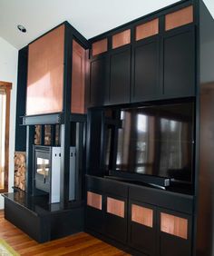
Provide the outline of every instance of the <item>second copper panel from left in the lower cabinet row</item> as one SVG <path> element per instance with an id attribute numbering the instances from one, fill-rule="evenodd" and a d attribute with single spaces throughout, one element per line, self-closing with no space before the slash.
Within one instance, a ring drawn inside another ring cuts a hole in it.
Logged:
<path id="1" fill-rule="evenodd" d="M 107 197 L 107 212 L 124 218 L 125 202 Z"/>

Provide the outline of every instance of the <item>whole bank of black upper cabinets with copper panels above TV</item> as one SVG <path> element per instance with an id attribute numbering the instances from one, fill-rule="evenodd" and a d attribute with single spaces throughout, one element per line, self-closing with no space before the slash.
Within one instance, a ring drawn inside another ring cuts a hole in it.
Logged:
<path id="1" fill-rule="evenodd" d="M 98 36 L 92 41 L 92 45 L 102 42 L 102 51 L 92 48 L 91 100 L 95 88 L 99 87 L 102 93 L 99 93 L 100 101 L 93 101 L 91 105 L 141 103 L 195 95 L 193 6 L 183 5 L 171 10 L 106 34 L 109 43 L 104 44 L 104 51 L 103 39 L 99 41 Z M 101 64 L 98 59 L 103 56 L 105 61 Z M 97 62 L 98 72 L 94 69 Z"/>

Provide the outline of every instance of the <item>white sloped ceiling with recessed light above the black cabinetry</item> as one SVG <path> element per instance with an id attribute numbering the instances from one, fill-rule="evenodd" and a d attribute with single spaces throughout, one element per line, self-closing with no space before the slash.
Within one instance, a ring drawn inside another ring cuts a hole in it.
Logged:
<path id="1" fill-rule="evenodd" d="M 0 36 L 17 49 L 63 21 L 87 39 L 178 0 L 0 0 Z M 214 16 L 214 1 L 205 0 Z M 18 31 L 24 25 L 27 33 Z"/>

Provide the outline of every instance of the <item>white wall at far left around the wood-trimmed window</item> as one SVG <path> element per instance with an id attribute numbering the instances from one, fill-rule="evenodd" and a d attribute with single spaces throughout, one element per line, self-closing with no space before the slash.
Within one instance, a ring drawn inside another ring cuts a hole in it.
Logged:
<path id="1" fill-rule="evenodd" d="M 18 50 L 0 37 L 0 81 L 13 83 L 10 110 L 10 143 L 9 143 L 9 192 L 14 185 L 14 152 L 15 152 L 15 104 L 17 82 Z M 0 209 L 4 208 L 4 199 L 0 196 Z"/>

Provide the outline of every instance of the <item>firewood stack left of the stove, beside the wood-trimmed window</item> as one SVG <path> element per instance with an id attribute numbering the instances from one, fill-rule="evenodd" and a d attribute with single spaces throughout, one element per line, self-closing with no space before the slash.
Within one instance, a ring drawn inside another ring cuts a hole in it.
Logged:
<path id="1" fill-rule="evenodd" d="M 26 155 L 24 152 L 15 152 L 15 187 L 25 190 Z"/>

